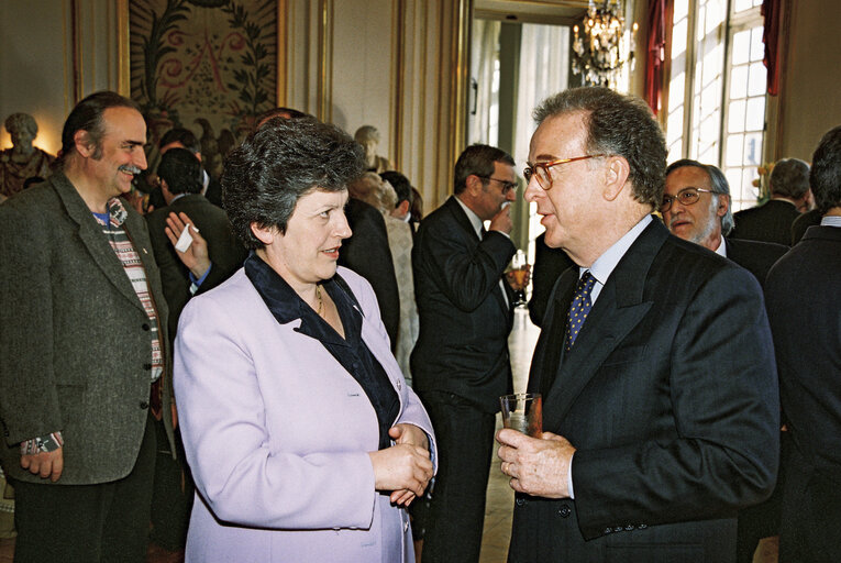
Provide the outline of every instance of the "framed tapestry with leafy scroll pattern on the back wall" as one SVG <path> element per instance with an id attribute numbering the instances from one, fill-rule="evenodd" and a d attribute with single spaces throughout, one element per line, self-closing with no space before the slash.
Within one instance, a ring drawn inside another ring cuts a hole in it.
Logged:
<path id="1" fill-rule="evenodd" d="M 150 143 L 187 128 L 200 137 L 204 166 L 215 168 L 254 117 L 276 104 L 277 0 L 129 5 L 131 97 Z"/>

